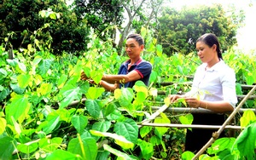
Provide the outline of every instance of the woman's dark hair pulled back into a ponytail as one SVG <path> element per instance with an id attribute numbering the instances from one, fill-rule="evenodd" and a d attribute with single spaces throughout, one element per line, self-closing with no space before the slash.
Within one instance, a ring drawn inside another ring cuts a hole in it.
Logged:
<path id="1" fill-rule="evenodd" d="M 209 47 L 212 47 L 214 44 L 216 44 L 217 46 L 217 53 L 218 53 L 218 58 L 223 60 L 222 58 L 222 54 L 221 54 L 221 51 L 220 51 L 220 45 L 219 45 L 219 42 L 218 42 L 218 37 L 215 36 L 215 34 L 212 34 L 212 33 L 206 33 L 204 35 L 202 35 L 201 37 L 199 37 L 197 40 L 196 40 L 196 43 L 197 42 L 203 42 L 203 43 L 206 43 Z"/>

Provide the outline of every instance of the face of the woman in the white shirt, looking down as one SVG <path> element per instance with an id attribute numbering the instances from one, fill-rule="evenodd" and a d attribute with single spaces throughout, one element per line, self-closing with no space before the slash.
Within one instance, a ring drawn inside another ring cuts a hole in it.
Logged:
<path id="1" fill-rule="evenodd" d="M 210 48 L 206 43 L 199 41 L 196 43 L 197 55 L 203 63 L 209 63 L 210 61 L 214 60 L 216 56 L 218 57 L 216 47 L 216 44 L 214 44 Z"/>

